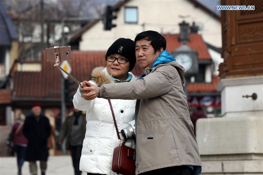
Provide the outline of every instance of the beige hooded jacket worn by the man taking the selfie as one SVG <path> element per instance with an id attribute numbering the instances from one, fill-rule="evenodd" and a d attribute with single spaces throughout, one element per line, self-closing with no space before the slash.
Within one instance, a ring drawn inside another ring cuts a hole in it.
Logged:
<path id="1" fill-rule="evenodd" d="M 201 165 L 183 86 L 185 69 L 173 61 L 145 69 L 134 82 L 105 84 L 99 98 L 141 99 L 135 108 L 136 174 L 164 167 Z"/>

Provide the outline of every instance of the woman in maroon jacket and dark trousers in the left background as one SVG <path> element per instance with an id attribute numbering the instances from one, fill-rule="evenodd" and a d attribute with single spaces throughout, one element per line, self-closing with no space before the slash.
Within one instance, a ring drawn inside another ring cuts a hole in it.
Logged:
<path id="1" fill-rule="evenodd" d="M 25 151 L 27 148 L 27 138 L 23 134 L 23 125 L 25 121 L 25 115 L 19 113 L 16 116 L 16 123 L 12 128 L 12 138 L 14 143 L 14 151 L 17 155 L 18 175 L 21 175 L 21 168 L 25 160 Z"/>

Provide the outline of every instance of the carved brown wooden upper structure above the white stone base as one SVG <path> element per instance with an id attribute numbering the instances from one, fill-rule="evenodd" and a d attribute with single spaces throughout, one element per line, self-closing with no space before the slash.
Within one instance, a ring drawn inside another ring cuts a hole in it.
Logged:
<path id="1" fill-rule="evenodd" d="M 254 5 L 255 10 L 222 10 L 221 78 L 263 74 L 263 1 L 221 0 L 221 5 Z"/>

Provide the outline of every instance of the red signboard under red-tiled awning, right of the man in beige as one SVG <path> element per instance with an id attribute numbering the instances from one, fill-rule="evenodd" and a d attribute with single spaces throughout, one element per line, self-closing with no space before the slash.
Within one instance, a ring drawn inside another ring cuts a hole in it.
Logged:
<path id="1" fill-rule="evenodd" d="M 201 96 L 201 97 L 189 97 L 188 106 L 216 106 L 221 107 L 221 96 Z"/>

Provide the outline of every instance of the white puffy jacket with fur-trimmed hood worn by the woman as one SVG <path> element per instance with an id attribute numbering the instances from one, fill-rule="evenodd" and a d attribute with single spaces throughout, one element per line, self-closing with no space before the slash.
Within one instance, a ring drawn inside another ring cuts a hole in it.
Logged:
<path id="1" fill-rule="evenodd" d="M 129 74 L 132 75 L 131 81 L 137 79 L 131 72 Z M 113 82 L 104 67 L 95 68 L 91 75 L 92 80 L 89 82 L 97 86 Z M 129 122 L 134 120 L 135 103 L 136 100 L 111 100 L 119 131 L 128 127 Z M 87 111 L 86 134 L 82 145 L 80 171 L 107 175 L 116 174 L 111 171 L 111 162 L 113 150 L 119 146 L 119 142 L 108 100 L 95 98 L 87 101 L 81 97 L 78 89 L 74 95 L 73 104 L 74 108 Z M 119 133 L 122 141 L 124 141 L 121 132 Z M 125 145 L 135 148 L 135 142 L 132 138 L 128 139 Z"/>

